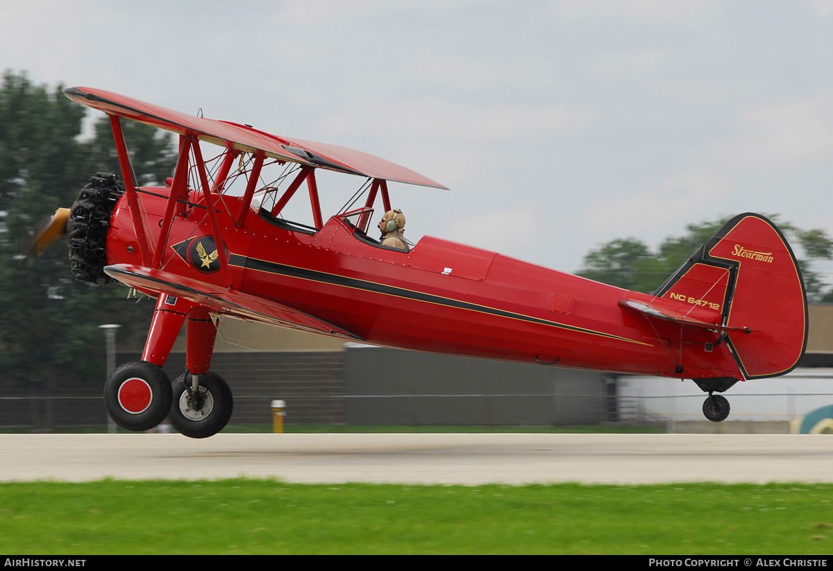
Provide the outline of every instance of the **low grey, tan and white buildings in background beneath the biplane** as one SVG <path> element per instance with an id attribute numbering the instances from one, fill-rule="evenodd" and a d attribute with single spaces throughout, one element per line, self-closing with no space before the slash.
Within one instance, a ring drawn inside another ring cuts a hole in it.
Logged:
<path id="1" fill-rule="evenodd" d="M 184 350 L 183 328 L 165 365 L 172 379 L 184 371 Z M 141 354 L 141 346 L 119 345 L 117 363 Z M 287 401 L 288 424 L 590 425 L 704 420 L 706 398 L 689 380 L 344 344 L 232 319 L 220 322 L 212 370 L 234 391 L 232 424 L 270 423 L 274 399 Z M 833 305 L 811 305 L 798 369 L 738 383 L 726 397 L 727 422 L 792 420 L 833 404 Z M 44 425 L 44 418 L 53 426 L 105 424 L 101 387 L 65 384 L 47 393 L 0 376 L 0 425 Z"/>

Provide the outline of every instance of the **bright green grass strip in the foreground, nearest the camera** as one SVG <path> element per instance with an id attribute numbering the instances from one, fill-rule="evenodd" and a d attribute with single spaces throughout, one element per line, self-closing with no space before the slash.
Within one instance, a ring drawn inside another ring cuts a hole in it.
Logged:
<path id="1" fill-rule="evenodd" d="M 0 553 L 830 554 L 829 484 L 0 484 Z"/>

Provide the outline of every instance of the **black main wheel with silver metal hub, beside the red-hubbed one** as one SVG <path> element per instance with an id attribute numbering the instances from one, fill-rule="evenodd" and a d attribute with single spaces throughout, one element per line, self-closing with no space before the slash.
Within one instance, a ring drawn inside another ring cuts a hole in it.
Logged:
<path id="1" fill-rule="evenodd" d="M 190 438 L 217 434 L 232 418 L 232 390 L 220 375 L 209 371 L 200 375 L 200 386 L 191 388 L 191 374 L 173 381 L 173 404 L 169 418 L 173 428 Z"/>

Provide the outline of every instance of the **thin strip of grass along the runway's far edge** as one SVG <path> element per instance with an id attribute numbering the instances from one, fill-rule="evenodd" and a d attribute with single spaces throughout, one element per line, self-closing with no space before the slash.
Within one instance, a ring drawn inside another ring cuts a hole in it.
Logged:
<path id="1" fill-rule="evenodd" d="M 57 434 L 94 434 L 106 433 L 107 426 L 59 426 L 50 429 Z M 227 433 L 262 433 L 272 432 L 272 425 L 228 425 L 222 430 Z M 2 433 L 32 433 L 38 432 L 31 426 L 0 426 Z M 132 434 L 129 430 L 118 429 L 119 433 Z M 284 425 L 287 434 L 348 434 L 348 433 L 416 433 L 429 434 L 434 432 L 456 433 L 613 433 L 613 434 L 645 434 L 664 433 L 665 429 L 651 426 L 462 426 L 462 425 Z"/>

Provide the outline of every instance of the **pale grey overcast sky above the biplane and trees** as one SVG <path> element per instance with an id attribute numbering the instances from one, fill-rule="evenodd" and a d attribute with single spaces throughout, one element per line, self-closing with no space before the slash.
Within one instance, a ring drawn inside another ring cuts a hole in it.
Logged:
<path id="1" fill-rule="evenodd" d="M 392 186 L 412 241 L 577 271 L 744 211 L 833 236 L 833 0 L 2 0 L 0 57 L 408 166 L 451 188 Z"/>

